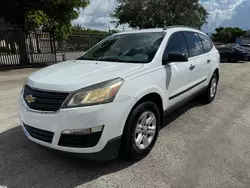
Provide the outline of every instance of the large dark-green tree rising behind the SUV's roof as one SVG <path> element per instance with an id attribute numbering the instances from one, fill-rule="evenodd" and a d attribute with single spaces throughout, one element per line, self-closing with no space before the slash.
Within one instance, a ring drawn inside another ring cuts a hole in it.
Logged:
<path id="1" fill-rule="evenodd" d="M 117 25 L 155 28 L 188 25 L 196 28 L 206 23 L 207 11 L 199 0 L 118 0 L 112 16 Z"/>

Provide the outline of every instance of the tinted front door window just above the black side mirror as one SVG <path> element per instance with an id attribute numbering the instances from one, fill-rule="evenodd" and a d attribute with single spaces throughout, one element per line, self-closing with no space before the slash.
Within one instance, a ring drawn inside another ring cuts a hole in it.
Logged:
<path id="1" fill-rule="evenodd" d="M 164 56 L 168 56 L 171 52 L 184 54 L 186 57 L 189 56 L 186 40 L 182 32 L 174 33 L 170 37 Z"/>

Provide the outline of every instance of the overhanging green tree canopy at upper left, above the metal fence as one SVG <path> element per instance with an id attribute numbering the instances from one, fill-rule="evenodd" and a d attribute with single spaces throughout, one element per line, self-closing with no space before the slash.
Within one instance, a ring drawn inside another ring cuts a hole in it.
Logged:
<path id="1" fill-rule="evenodd" d="M 54 31 L 58 40 L 71 32 L 71 21 L 79 16 L 89 0 L 8 0 L 0 1 L 0 18 L 5 22 L 25 24 L 27 30 Z M 9 11 L 11 10 L 11 11 Z"/>

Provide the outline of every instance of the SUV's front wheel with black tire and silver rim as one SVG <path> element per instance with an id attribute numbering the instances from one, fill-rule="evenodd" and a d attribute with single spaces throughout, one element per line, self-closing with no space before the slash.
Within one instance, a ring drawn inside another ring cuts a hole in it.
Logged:
<path id="1" fill-rule="evenodd" d="M 155 118 L 155 120 L 143 127 L 145 125 L 145 117 L 148 121 L 150 121 L 150 118 Z M 147 156 L 157 140 L 161 126 L 160 118 L 160 111 L 155 103 L 147 101 L 136 106 L 129 114 L 124 128 L 120 157 L 125 160 L 137 161 Z M 153 130 L 155 130 L 154 134 Z M 143 136 L 143 134 L 146 135 Z"/>

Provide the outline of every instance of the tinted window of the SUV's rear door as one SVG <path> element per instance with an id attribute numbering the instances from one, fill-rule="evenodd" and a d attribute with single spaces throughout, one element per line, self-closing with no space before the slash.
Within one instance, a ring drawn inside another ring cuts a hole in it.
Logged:
<path id="1" fill-rule="evenodd" d="M 189 53 L 191 57 L 200 55 L 204 53 L 204 48 L 202 46 L 201 40 L 197 33 L 194 32 L 184 32 Z"/>

